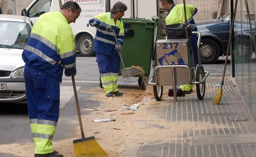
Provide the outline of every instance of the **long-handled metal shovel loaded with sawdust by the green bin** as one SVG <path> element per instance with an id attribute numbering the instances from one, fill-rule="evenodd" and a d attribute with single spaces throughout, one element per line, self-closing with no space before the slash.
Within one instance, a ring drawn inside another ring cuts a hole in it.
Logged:
<path id="1" fill-rule="evenodd" d="M 118 45 L 118 42 L 117 42 L 117 35 L 116 33 L 114 32 L 113 30 L 113 33 L 114 33 L 114 38 L 116 40 L 116 43 Z M 118 51 L 118 54 L 119 54 L 119 57 L 120 57 L 120 60 L 121 60 L 121 63 L 122 63 L 122 66 L 123 66 L 123 69 L 121 69 L 121 73 L 122 73 L 122 77 L 123 78 L 126 78 L 126 77 L 133 77 L 133 76 L 141 76 L 144 74 L 144 71 L 143 69 L 139 69 L 139 67 L 137 66 L 131 66 L 129 68 L 125 68 L 124 64 L 123 64 L 123 58 L 121 56 L 121 53 L 120 51 Z"/>

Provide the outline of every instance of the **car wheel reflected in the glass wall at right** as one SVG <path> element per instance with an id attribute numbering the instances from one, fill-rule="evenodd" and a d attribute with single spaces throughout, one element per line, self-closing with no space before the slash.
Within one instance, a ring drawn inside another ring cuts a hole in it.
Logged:
<path id="1" fill-rule="evenodd" d="M 236 43 L 236 56 L 238 60 L 248 61 L 252 56 L 252 49 L 249 41 L 247 39 L 243 39 L 243 41 L 239 41 Z"/>

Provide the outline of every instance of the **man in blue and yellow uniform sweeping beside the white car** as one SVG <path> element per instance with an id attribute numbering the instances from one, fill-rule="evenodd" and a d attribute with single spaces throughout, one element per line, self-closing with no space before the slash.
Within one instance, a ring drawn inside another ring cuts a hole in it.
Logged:
<path id="1" fill-rule="evenodd" d="M 70 23 L 80 15 L 76 2 L 64 3 L 60 11 L 40 15 L 24 48 L 25 85 L 34 157 L 63 157 L 53 149 L 59 118 L 59 84 L 65 75 L 76 74 L 74 35 Z"/>

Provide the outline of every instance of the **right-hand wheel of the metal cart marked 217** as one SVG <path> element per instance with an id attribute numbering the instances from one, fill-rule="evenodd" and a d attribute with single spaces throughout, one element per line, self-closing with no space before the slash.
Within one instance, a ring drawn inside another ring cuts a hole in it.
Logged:
<path id="1" fill-rule="evenodd" d="M 204 77 L 203 66 L 199 65 L 197 66 L 196 81 L 197 82 L 201 81 L 203 77 Z M 202 100 L 205 94 L 205 82 L 203 82 L 202 84 L 197 84 L 196 87 L 197 87 L 197 97 L 199 100 Z"/>

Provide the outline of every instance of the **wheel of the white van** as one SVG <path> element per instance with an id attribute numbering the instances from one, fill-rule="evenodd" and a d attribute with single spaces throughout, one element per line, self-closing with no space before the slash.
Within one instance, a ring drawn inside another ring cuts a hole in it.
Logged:
<path id="1" fill-rule="evenodd" d="M 80 55 L 84 57 L 95 56 L 93 50 L 94 38 L 89 34 L 82 34 L 78 39 L 78 49 Z"/>

